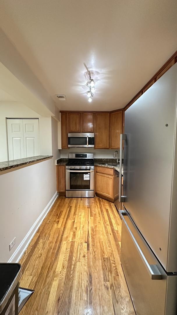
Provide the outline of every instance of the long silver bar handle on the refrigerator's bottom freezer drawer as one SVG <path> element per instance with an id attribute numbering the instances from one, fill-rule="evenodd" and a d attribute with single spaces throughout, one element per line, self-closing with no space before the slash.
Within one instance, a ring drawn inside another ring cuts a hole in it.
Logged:
<path id="1" fill-rule="evenodd" d="M 138 252 L 140 254 L 140 257 L 141 257 L 141 259 L 142 259 L 142 261 L 143 261 L 143 263 L 144 263 L 144 265 L 145 265 L 145 267 L 146 267 L 146 269 L 147 269 L 151 279 L 152 280 L 161 280 L 162 279 L 162 275 L 161 275 L 160 271 L 158 270 L 158 267 L 156 265 L 149 265 L 149 263 L 148 263 L 145 255 L 143 254 L 140 246 L 136 242 L 136 239 L 133 236 L 133 234 L 132 234 L 132 232 L 130 230 L 130 227 L 128 226 L 127 222 L 125 221 L 125 219 L 124 219 L 124 215 L 126 215 L 125 211 L 120 211 L 120 212 L 121 212 L 122 220 L 124 221 L 124 223 L 125 223 L 125 225 L 127 227 L 127 230 L 130 233 L 130 236 L 131 236 L 131 238 L 132 238 L 132 240 L 133 240 L 133 242 L 134 242 L 134 244 L 135 244 L 135 246 L 136 246 L 136 248 L 137 248 L 137 250 L 138 250 Z"/>

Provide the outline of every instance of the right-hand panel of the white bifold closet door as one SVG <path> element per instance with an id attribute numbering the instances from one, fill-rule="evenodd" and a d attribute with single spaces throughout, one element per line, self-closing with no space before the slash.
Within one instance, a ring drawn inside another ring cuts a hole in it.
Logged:
<path id="1" fill-rule="evenodd" d="M 39 119 L 23 119 L 24 155 L 39 155 Z"/>

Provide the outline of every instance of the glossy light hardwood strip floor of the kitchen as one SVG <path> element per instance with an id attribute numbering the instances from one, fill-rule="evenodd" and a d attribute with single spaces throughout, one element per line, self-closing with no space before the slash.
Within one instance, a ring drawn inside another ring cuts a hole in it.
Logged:
<path id="1" fill-rule="evenodd" d="M 120 235 L 113 203 L 58 197 L 20 261 L 20 286 L 35 290 L 20 315 L 135 315 Z"/>

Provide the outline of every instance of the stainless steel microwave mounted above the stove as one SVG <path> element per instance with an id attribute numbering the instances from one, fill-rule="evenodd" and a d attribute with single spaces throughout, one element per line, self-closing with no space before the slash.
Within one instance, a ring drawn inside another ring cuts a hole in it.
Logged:
<path id="1" fill-rule="evenodd" d="M 94 133 L 69 133 L 68 146 L 69 147 L 88 147 L 93 148 L 95 145 Z"/>

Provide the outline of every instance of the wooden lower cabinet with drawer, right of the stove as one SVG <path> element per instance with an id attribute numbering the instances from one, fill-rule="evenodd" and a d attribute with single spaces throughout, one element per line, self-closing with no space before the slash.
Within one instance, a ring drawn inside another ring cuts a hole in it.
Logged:
<path id="1" fill-rule="evenodd" d="M 119 198 L 118 174 L 114 169 L 96 166 L 95 192 L 98 197 L 112 202 Z"/>

